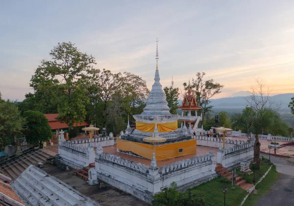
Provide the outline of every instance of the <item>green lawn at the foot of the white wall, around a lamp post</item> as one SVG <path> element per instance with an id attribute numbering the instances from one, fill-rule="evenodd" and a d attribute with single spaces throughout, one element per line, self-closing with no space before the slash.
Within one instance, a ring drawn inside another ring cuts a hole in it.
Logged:
<path id="1" fill-rule="evenodd" d="M 222 188 L 225 186 L 227 187 L 225 205 L 239 206 L 247 192 L 238 186 L 234 186 L 232 189 L 232 183 L 223 183 L 221 178 L 215 178 L 212 181 L 200 184 L 190 189 L 190 191 L 198 197 L 202 197 L 205 200 L 206 206 L 222 206 L 224 199 Z"/>

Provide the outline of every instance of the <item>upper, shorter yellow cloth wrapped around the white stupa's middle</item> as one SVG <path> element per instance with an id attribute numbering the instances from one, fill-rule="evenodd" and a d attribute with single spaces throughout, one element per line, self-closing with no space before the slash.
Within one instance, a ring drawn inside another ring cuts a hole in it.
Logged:
<path id="1" fill-rule="evenodd" d="M 136 121 L 136 129 L 141 132 L 154 132 L 155 123 Z M 177 121 L 168 123 L 157 123 L 158 132 L 171 132 L 177 129 Z"/>

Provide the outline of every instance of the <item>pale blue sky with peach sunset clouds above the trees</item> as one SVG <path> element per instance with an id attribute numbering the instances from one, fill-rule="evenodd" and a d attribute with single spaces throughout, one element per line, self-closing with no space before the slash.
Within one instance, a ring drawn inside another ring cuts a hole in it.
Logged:
<path id="1" fill-rule="evenodd" d="M 262 78 L 294 92 L 293 0 L 0 0 L 0 92 L 22 101 L 42 59 L 60 42 L 92 54 L 97 69 L 182 89 L 197 71 L 240 96 Z"/>

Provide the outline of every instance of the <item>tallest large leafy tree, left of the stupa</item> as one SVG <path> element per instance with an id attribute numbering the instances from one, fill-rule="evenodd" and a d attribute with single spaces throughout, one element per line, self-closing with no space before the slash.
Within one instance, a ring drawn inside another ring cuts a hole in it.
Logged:
<path id="1" fill-rule="evenodd" d="M 42 60 L 31 78 L 30 86 L 39 105 L 46 105 L 44 113 L 54 109 L 58 120 L 70 128 L 86 118 L 85 104 L 89 101 L 87 83 L 95 72 L 94 57 L 80 52 L 71 42 L 58 43 L 49 53 L 51 60 Z M 48 109 L 53 105 L 53 109 Z"/>

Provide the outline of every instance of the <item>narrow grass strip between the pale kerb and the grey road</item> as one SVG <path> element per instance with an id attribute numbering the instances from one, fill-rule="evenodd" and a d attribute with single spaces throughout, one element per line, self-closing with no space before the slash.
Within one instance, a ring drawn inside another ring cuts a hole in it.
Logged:
<path id="1" fill-rule="evenodd" d="M 270 187 L 279 179 L 280 173 L 274 167 L 271 167 L 268 175 L 256 185 L 256 193 L 253 191 L 246 199 L 243 206 L 254 206 L 259 198 L 270 192 Z"/>

